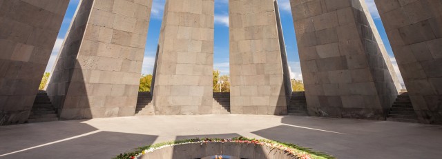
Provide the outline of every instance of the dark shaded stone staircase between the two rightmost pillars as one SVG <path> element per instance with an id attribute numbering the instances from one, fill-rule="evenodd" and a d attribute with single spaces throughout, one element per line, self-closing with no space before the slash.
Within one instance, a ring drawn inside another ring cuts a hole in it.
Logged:
<path id="1" fill-rule="evenodd" d="M 408 93 L 403 92 L 398 95 L 398 98 L 396 98 L 396 101 L 394 101 L 393 106 L 388 113 L 387 120 L 407 123 L 419 123 Z"/>

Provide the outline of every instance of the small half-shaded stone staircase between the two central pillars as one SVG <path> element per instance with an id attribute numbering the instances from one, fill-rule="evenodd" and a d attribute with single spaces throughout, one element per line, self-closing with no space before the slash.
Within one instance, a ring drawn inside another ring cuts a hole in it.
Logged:
<path id="1" fill-rule="evenodd" d="M 213 114 L 230 114 L 230 92 L 213 92 Z"/>

